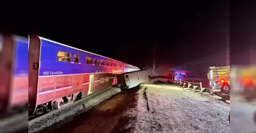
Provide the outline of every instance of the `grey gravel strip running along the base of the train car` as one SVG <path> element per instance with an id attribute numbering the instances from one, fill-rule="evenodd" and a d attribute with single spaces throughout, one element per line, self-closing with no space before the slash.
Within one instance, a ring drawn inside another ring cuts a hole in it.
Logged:
<path id="1" fill-rule="evenodd" d="M 54 124 L 58 125 L 60 123 L 69 122 L 74 116 L 88 111 L 93 106 L 99 104 L 105 99 L 108 99 L 112 95 L 118 94 L 120 91 L 120 88 L 110 87 L 96 92 L 95 94 L 88 95 L 87 97 L 74 102 L 70 106 L 67 106 L 67 108 L 61 108 L 60 111 L 56 111 L 56 113 L 42 118 L 41 120 L 38 120 L 38 122 L 29 124 L 29 132 L 39 132 L 40 130 L 50 127 Z"/>

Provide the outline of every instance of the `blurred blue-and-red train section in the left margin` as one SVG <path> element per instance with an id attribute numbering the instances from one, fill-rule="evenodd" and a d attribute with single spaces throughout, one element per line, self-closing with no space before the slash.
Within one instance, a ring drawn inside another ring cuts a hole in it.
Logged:
<path id="1" fill-rule="evenodd" d="M 0 115 L 28 108 L 28 38 L 0 35 Z"/>

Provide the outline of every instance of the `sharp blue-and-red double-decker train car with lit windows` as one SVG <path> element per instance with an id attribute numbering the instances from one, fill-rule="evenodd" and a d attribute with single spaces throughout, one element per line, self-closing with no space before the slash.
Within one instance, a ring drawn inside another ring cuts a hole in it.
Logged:
<path id="1" fill-rule="evenodd" d="M 35 35 L 29 36 L 29 64 L 29 116 L 111 87 L 116 74 L 127 71 L 118 60 Z"/>

